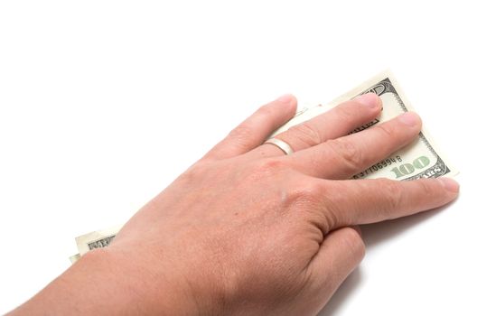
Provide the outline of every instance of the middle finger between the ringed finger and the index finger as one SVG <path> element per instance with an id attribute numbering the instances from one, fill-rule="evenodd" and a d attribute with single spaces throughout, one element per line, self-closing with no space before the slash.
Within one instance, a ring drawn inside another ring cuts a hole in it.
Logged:
<path id="1" fill-rule="evenodd" d="M 324 179 L 350 179 L 411 143 L 421 120 L 407 112 L 360 133 L 333 139 L 286 157 L 297 170 Z"/>

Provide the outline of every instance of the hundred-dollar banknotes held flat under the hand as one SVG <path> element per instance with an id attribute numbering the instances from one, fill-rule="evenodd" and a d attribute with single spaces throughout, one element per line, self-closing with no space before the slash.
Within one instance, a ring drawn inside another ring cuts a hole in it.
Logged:
<path id="1" fill-rule="evenodd" d="M 314 116 L 318 116 L 344 101 L 368 92 L 376 93 L 382 99 L 383 109 L 381 115 L 372 122 L 356 128 L 354 131 L 351 131 L 351 133 L 359 133 L 366 128 L 379 125 L 404 112 L 414 111 L 414 108 L 411 107 L 402 89 L 399 88 L 397 80 L 391 72 L 387 70 L 363 82 L 360 86 L 351 89 L 351 91 L 343 94 L 341 97 L 335 98 L 327 105 L 304 107 L 296 113 L 295 117 L 278 128 L 270 137 L 287 130 L 293 125 L 300 124 Z M 436 147 L 435 141 L 423 126 L 421 133 L 412 144 L 408 144 L 405 148 L 393 153 L 382 162 L 376 163 L 368 169 L 355 174 L 353 178 L 388 178 L 397 181 L 407 181 L 419 178 L 454 176 L 455 174 L 457 174 L 456 170 Z M 76 262 L 80 256 L 83 256 L 92 249 L 108 246 L 114 237 L 116 237 L 121 227 L 122 226 L 117 226 L 98 230 L 76 237 L 79 254 L 70 256 L 71 263 Z"/>

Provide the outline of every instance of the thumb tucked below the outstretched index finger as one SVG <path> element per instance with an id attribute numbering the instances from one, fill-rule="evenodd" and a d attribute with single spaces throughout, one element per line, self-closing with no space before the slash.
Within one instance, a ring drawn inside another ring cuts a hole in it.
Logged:
<path id="1" fill-rule="evenodd" d="M 357 228 L 340 228 L 327 235 L 309 267 L 312 293 L 323 297 L 316 314 L 332 297 L 340 284 L 360 265 L 365 246 Z"/>

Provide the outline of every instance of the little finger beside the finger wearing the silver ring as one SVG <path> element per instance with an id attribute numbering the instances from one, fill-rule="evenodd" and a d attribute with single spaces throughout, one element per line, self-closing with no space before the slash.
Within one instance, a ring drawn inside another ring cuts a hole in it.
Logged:
<path id="1" fill-rule="evenodd" d="M 258 108 L 239 126 L 235 127 L 204 158 L 225 159 L 247 153 L 263 144 L 267 136 L 292 118 L 296 112 L 296 98 L 285 95 Z"/>

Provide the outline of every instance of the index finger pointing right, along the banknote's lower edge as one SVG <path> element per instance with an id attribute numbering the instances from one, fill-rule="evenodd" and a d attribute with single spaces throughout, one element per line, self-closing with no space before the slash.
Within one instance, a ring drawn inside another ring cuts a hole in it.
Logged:
<path id="1" fill-rule="evenodd" d="M 415 181 L 325 181 L 321 194 L 326 204 L 326 225 L 333 229 L 435 209 L 454 200 L 458 192 L 456 181 L 441 177 Z M 323 218 L 323 214 L 320 216 Z"/>

